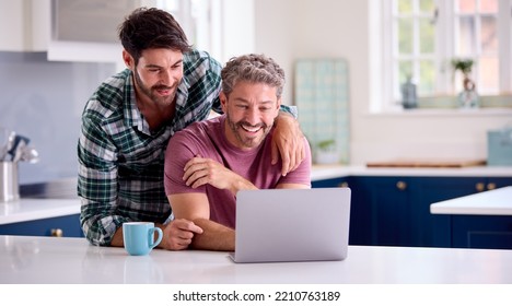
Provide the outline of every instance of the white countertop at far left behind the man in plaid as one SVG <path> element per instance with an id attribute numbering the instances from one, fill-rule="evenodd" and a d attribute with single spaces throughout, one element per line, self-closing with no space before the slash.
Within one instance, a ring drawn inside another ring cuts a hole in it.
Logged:
<path id="1" fill-rule="evenodd" d="M 0 203 L 0 225 L 80 213 L 80 199 L 20 199 Z"/>

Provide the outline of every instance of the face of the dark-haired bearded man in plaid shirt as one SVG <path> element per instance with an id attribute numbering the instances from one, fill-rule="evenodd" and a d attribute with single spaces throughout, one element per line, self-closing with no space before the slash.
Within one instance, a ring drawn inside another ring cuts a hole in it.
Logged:
<path id="1" fill-rule="evenodd" d="M 183 54 L 172 49 L 147 49 L 139 62 L 123 52 L 127 67 L 133 71 L 137 97 L 143 103 L 170 106 L 183 78 Z"/>

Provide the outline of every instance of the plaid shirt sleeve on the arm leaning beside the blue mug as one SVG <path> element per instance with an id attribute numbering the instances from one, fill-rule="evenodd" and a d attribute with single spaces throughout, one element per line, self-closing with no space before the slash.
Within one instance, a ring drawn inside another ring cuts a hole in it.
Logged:
<path id="1" fill-rule="evenodd" d="M 78 144 L 80 223 L 88 240 L 108 246 L 126 217 L 116 215 L 116 151 L 92 116 L 84 116 Z"/>

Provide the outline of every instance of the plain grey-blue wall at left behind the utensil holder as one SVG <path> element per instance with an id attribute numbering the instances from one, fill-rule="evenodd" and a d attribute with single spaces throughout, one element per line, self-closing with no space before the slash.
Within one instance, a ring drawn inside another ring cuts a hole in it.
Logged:
<path id="1" fill-rule="evenodd" d="M 26 136 L 37 164 L 20 163 L 20 184 L 77 176 L 80 115 L 114 63 L 47 61 L 45 52 L 0 52 L 0 126 Z"/>

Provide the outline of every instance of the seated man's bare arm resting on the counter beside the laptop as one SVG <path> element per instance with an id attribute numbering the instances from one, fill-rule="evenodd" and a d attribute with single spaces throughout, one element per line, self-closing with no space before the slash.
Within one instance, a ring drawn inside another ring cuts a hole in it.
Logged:
<path id="1" fill-rule="evenodd" d="M 234 250 L 234 229 L 210 220 L 210 204 L 205 193 L 171 195 L 168 201 L 175 217 L 190 220 L 202 228 L 201 234 L 194 235 L 191 248 Z"/>

